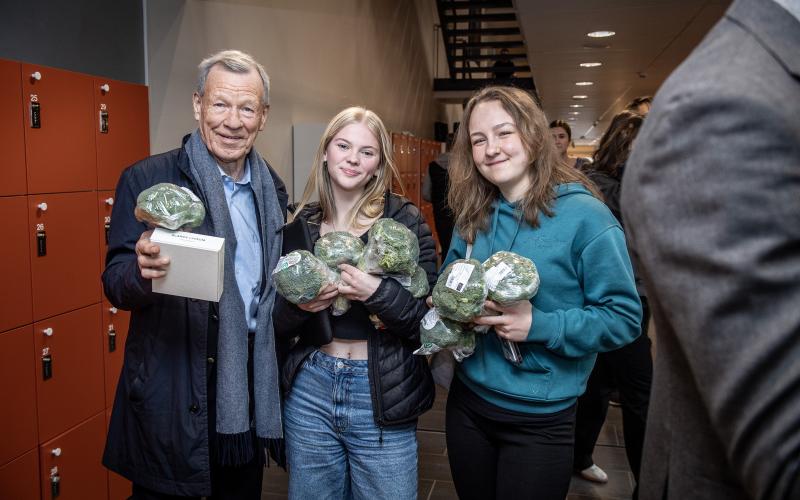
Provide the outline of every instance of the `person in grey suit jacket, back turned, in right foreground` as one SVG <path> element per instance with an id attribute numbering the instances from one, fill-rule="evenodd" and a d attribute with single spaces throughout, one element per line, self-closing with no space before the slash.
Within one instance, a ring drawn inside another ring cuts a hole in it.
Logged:
<path id="1" fill-rule="evenodd" d="M 737 0 L 622 188 L 656 362 L 640 498 L 800 498 L 800 3 Z"/>

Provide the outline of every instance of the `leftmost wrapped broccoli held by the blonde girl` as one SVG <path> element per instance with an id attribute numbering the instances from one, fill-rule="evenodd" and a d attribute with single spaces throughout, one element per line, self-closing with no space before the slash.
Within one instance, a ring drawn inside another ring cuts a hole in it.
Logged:
<path id="1" fill-rule="evenodd" d="M 292 304 L 311 302 L 325 286 L 335 283 L 336 273 L 307 250 L 289 252 L 272 271 L 275 288 Z"/>

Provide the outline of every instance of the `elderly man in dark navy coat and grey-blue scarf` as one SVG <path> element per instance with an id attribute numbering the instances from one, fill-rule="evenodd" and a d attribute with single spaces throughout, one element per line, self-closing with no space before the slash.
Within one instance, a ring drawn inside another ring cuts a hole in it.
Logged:
<path id="1" fill-rule="evenodd" d="M 269 276 L 287 195 L 253 148 L 269 78 L 233 50 L 199 68 L 198 129 L 125 170 L 111 218 L 103 285 L 132 314 L 103 463 L 133 482 L 135 499 L 260 498 L 263 443 L 281 436 Z M 219 303 L 152 292 L 169 259 L 133 212 L 160 182 L 197 194 L 207 215 L 195 231 L 225 238 Z"/>

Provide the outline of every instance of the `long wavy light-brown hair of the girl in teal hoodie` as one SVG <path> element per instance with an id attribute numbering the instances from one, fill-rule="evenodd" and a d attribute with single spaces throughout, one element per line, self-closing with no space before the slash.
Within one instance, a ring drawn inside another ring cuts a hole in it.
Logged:
<path id="1" fill-rule="evenodd" d="M 497 186 L 478 171 L 469 137 L 469 121 L 475 107 L 489 101 L 499 102 L 514 119 L 522 146 L 532 159 L 528 170 L 530 187 L 519 201 L 520 215 L 528 224 L 538 227 L 540 212 L 547 216 L 553 214 L 550 207 L 558 184 L 578 182 L 600 197 L 594 184 L 561 158 L 547 118 L 529 93 L 514 87 L 486 87 L 473 95 L 464 108 L 448 169 L 447 203 L 455 214 L 456 229 L 467 242 L 474 242 L 478 232 L 488 229 L 492 204 L 500 193 Z"/>

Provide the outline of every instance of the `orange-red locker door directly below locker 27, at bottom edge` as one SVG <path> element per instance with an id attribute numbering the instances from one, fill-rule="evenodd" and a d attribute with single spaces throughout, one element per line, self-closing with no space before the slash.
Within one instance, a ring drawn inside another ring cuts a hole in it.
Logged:
<path id="1" fill-rule="evenodd" d="M 105 412 L 39 447 L 43 500 L 106 500 L 108 474 L 103 467 L 106 438 Z M 59 492 L 53 495 L 52 482 Z"/>

